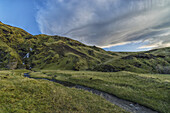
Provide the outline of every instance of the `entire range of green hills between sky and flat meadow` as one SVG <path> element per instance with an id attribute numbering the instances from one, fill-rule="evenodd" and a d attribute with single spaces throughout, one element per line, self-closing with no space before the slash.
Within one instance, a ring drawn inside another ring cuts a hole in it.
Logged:
<path id="1" fill-rule="evenodd" d="M 0 22 L 0 69 L 170 73 L 170 48 L 108 52 L 60 36 L 36 35 Z"/>

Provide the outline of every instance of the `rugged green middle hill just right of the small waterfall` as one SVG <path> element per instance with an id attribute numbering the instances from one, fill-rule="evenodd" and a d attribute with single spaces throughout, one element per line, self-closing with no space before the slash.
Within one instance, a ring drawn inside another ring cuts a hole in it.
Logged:
<path id="1" fill-rule="evenodd" d="M 102 49 L 66 37 L 38 35 L 32 40 L 29 60 L 37 69 L 83 70 L 112 58 Z"/>

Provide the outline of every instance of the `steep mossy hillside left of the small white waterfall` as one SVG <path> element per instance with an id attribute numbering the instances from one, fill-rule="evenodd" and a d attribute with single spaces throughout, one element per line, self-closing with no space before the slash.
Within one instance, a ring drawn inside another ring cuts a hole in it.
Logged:
<path id="1" fill-rule="evenodd" d="M 22 59 L 18 49 L 24 43 L 24 36 L 29 35 L 26 31 L 0 22 L 0 68 L 21 68 Z"/>

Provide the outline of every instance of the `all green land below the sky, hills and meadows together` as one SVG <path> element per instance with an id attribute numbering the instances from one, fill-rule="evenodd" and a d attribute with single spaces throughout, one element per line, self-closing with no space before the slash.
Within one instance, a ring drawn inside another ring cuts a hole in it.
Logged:
<path id="1" fill-rule="evenodd" d="M 142 113 L 83 87 L 132 102 L 131 107 L 170 113 L 170 47 L 111 52 L 0 22 L 0 113 Z"/>

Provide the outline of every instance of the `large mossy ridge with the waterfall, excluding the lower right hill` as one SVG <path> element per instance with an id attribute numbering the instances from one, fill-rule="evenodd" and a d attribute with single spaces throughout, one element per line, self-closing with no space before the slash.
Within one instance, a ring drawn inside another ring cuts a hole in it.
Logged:
<path id="1" fill-rule="evenodd" d="M 84 70 L 113 57 L 103 49 L 87 46 L 66 37 L 32 36 L 22 29 L 3 23 L 0 23 L 0 44 L 4 61 L 0 67 L 7 69 L 26 67 Z M 6 66 L 10 64 L 14 65 Z"/>

